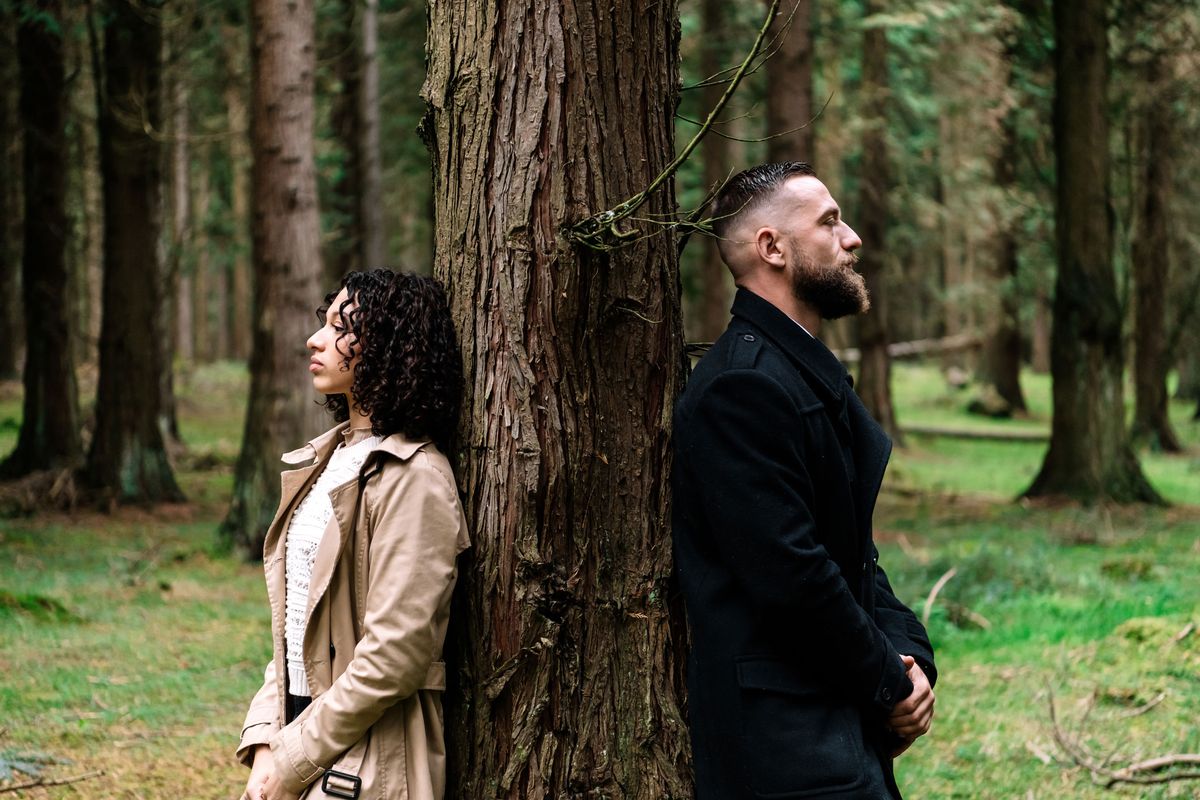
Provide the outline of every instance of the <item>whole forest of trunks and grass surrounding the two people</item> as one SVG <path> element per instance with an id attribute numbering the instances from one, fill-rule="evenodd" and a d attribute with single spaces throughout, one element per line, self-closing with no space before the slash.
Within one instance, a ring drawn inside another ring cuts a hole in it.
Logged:
<path id="1" fill-rule="evenodd" d="M 310 314 L 390 265 L 445 281 L 468 378 L 454 796 L 690 796 L 668 411 L 727 321 L 703 204 L 782 158 L 876 299 L 826 338 L 901 445 L 883 563 L 943 654 L 901 784 L 1194 790 L 1192 5 L 0 14 L 0 792 L 240 790 Z"/>

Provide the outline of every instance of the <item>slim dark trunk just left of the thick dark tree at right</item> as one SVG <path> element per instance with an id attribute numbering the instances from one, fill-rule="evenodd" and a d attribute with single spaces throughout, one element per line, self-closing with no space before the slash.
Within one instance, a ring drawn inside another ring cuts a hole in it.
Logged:
<path id="1" fill-rule="evenodd" d="M 1003 198 L 997 209 L 997 228 L 992 242 L 992 305 L 991 330 L 984 344 L 983 377 L 1014 411 L 1025 411 L 1021 392 L 1021 324 L 1020 300 L 1016 294 L 1018 219 L 1012 212 L 1008 196 L 1016 187 L 1016 121 L 1012 112 L 1001 130 L 1001 148 L 996 154 L 994 175 Z"/>

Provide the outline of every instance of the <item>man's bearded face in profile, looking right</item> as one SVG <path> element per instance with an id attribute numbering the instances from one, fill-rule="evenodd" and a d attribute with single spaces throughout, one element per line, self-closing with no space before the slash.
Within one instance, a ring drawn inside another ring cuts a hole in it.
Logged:
<path id="1" fill-rule="evenodd" d="M 854 249 L 863 241 L 841 218 L 826 185 L 808 175 L 785 185 L 775 207 L 787 241 L 787 275 L 796 299 L 822 319 L 862 314 L 871 307 Z"/>

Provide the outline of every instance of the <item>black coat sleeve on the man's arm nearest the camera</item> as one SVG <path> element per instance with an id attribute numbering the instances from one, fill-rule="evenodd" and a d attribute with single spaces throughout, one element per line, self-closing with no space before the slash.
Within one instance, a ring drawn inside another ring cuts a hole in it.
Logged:
<path id="1" fill-rule="evenodd" d="M 688 480 L 697 483 L 690 495 L 750 602 L 787 620 L 784 636 L 816 654 L 818 675 L 887 712 L 912 682 L 818 542 L 812 481 L 793 433 L 804 410 L 760 371 L 719 375 L 676 432 Z"/>

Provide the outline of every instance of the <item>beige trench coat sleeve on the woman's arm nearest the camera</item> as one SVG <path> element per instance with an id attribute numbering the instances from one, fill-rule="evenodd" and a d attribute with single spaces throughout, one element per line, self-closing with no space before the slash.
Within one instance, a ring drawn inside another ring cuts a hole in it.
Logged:
<path id="1" fill-rule="evenodd" d="M 276 772 L 292 792 L 300 793 L 385 710 L 415 693 L 442 646 L 434 618 L 454 590 L 463 524 L 454 485 L 418 452 L 395 485 L 372 497 L 367 518 L 362 638 L 329 691 L 271 738 Z"/>

